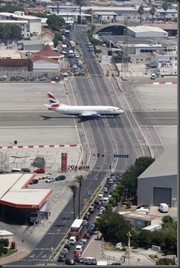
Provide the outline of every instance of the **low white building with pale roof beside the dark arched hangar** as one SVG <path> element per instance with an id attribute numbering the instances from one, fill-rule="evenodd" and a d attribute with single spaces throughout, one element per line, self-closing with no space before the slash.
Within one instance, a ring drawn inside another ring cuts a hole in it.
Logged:
<path id="1" fill-rule="evenodd" d="M 159 27 L 152 26 L 130 26 L 127 28 L 127 34 L 134 37 L 168 37 L 168 33 Z"/>

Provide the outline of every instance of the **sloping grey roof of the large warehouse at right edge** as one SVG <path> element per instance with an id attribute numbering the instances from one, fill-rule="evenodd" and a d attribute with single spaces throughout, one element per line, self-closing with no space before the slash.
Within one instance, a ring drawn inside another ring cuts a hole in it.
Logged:
<path id="1" fill-rule="evenodd" d="M 177 144 L 173 144 L 138 179 L 177 175 L 177 156 Z"/>

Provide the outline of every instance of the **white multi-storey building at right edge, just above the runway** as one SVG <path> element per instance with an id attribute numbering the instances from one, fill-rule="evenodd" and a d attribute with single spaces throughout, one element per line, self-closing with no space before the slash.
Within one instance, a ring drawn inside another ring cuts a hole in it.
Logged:
<path id="1" fill-rule="evenodd" d="M 160 53 L 153 52 L 149 65 L 157 68 L 156 71 L 161 75 L 177 75 L 177 46 L 166 46 Z"/>

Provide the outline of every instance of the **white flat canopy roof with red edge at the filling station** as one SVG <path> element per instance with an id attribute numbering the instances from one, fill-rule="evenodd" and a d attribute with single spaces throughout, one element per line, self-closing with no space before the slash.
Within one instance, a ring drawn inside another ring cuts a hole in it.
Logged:
<path id="1" fill-rule="evenodd" d="M 51 189 L 28 188 L 36 173 L 11 173 L 0 176 L 0 203 L 16 208 L 41 208 Z"/>

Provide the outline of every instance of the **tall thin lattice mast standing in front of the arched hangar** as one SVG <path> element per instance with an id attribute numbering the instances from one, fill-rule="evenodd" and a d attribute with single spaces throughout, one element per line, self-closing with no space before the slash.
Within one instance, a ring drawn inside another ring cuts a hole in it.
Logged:
<path id="1" fill-rule="evenodd" d="M 123 35 L 123 48 L 122 48 L 122 65 L 121 70 L 128 71 L 128 33 L 127 33 L 127 26 L 128 26 L 128 18 L 125 16 L 124 18 L 124 35 Z"/>

